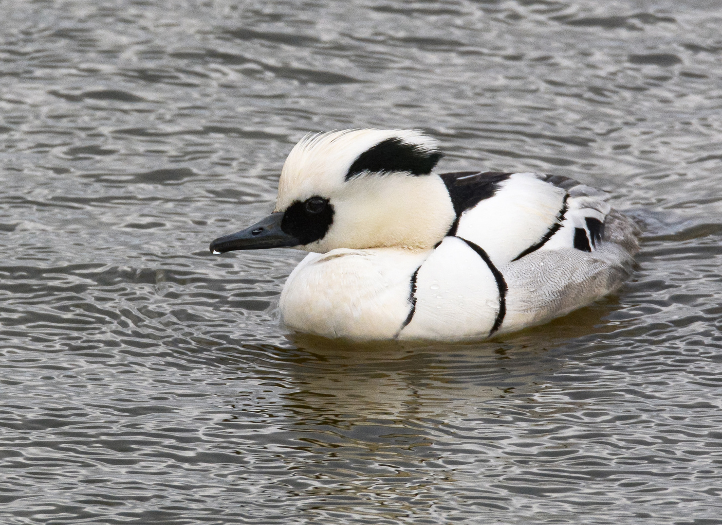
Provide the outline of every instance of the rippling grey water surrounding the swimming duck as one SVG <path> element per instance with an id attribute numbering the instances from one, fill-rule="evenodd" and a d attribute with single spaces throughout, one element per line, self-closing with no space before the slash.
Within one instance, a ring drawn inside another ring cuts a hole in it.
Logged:
<path id="1" fill-rule="evenodd" d="M 8 0 L 0 523 L 722 524 L 717 0 Z M 613 296 L 473 344 L 276 311 L 212 256 L 309 131 L 574 177 L 643 226 Z"/>

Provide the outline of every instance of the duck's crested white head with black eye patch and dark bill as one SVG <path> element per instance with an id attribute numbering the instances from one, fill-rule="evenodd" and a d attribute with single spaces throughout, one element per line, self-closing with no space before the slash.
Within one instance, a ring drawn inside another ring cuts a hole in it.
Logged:
<path id="1" fill-rule="evenodd" d="M 430 248 L 456 218 L 443 180 L 432 172 L 442 155 L 435 139 L 416 130 L 306 136 L 283 166 L 274 212 L 215 239 L 210 249 Z"/>

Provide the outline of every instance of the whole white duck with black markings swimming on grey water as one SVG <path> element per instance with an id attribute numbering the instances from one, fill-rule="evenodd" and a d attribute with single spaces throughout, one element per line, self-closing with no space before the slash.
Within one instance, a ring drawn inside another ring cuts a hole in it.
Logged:
<path id="1" fill-rule="evenodd" d="M 212 251 L 311 251 L 285 283 L 283 322 L 352 340 L 489 338 L 586 306 L 630 275 L 638 229 L 604 192 L 531 172 L 437 174 L 434 146 L 399 130 L 305 139 L 277 211 Z"/>

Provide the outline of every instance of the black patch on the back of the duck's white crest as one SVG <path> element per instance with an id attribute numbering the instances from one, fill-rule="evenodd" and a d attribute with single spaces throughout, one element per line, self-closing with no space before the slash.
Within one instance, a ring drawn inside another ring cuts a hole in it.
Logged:
<path id="1" fill-rule="evenodd" d="M 411 175 L 429 175 L 443 153 L 428 151 L 417 144 L 406 144 L 401 138 L 387 138 L 367 149 L 351 164 L 346 180 L 368 171 L 409 172 Z"/>

